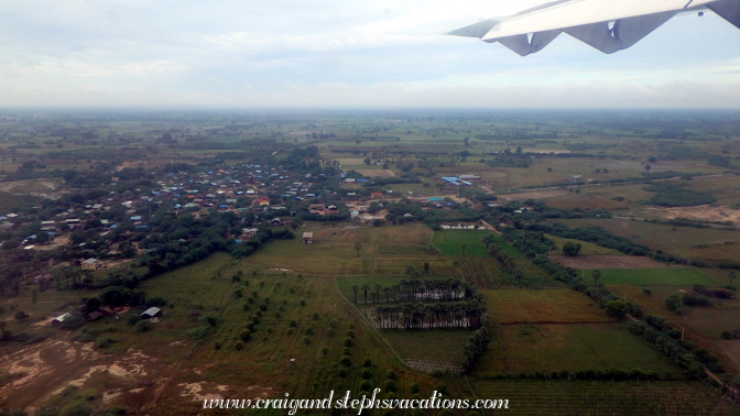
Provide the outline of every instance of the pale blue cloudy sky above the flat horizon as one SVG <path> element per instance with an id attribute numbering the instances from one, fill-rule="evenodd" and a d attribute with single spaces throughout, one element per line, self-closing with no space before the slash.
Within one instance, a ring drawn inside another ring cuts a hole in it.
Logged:
<path id="1" fill-rule="evenodd" d="M 2 0 L 0 108 L 740 109 L 740 30 L 677 17 L 605 55 L 444 35 L 542 0 Z"/>

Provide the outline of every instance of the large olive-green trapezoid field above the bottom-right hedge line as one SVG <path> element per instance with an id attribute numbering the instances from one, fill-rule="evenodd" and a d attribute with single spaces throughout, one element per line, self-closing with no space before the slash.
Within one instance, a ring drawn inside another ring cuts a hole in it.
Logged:
<path id="1" fill-rule="evenodd" d="M 475 374 L 611 368 L 654 370 L 659 374 L 678 371 L 659 351 L 627 331 L 623 324 L 520 324 L 500 327 Z"/>

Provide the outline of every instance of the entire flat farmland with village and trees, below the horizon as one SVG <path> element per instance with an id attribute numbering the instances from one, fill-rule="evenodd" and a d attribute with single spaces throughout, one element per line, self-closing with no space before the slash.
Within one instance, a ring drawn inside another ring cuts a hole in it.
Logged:
<path id="1" fill-rule="evenodd" d="M 740 124 L 646 114 L 7 114 L 0 410 L 738 415 L 694 379 L 740 380 Z"/>

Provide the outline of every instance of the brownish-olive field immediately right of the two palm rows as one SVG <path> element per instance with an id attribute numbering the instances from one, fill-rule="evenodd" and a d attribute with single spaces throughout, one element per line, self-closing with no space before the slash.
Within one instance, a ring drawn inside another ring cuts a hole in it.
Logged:
<path id="1" fill-rule="evenodd" d="M 598 305 L 569 288 L 551 291 L 483 291 L 494 322 L 609 322 Z"/>

